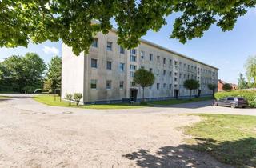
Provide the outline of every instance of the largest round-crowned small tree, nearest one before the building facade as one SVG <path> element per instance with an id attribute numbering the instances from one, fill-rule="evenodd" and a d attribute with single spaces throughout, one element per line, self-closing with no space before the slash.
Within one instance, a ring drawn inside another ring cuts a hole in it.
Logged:
<path id="1" fill-rule="evenodd" d="M 148 70 L 139 69 L 134 73 L 134 82 L 142 86 L 142 102 L 144 102 L 145 87 L 149 87 L 154 84 L 154 74 Z"/>

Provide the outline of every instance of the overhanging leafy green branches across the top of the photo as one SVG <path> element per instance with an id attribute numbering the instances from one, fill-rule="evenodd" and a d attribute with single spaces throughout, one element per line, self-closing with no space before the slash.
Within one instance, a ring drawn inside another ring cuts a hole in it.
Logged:
<path id="1" fill-rule="evenodd" d="M 185 43 L 200 38 L 216 24 L 232 30 L 238 17 L 254 8 L 256 1 L 61 1 L 2 0 L 0 4 L 0 47 L 27 46 L 28 43 L 62 40 L 74 54 L 88 51 L 94 34 L 107 33 L 114 18 L 118 44 L 138 46 L 148 30 L 166 25 L 166 16 L 179 13 L 170 38 Z M 96 21 L 96 22 L 94 22 Z M 92 22 L 94 22 L 92 24 Z"/>

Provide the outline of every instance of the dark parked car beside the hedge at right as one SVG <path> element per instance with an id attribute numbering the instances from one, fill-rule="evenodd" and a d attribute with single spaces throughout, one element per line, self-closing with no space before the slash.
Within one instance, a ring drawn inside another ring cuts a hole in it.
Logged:
<path id="1" fill-rule="evenodd" d="M 241 97 L 227 97 L 227 98 L 221 98 L 217 101 L 215 101 L 214 106 L 230 106 L 232 108 L 236 107 L 246 107 L 248 106 L 248 102 L 245 98 Z"/>

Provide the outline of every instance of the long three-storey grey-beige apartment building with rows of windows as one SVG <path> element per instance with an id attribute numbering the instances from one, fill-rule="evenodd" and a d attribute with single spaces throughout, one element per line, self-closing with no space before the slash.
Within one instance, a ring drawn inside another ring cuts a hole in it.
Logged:
<path id="1" fill-rule="evenodd" d="M 115 30 L 98 33 L 89 54 L 75 56 L 62 44 L 62 97 L 82 93 L 82 102 L 110 103 L 138 101 L 142 88 L 133 82 L 134 72 L 145 68 L 154 73 L 153 86 L 145 89 L 145 98 L 166 99 L 187 97 L 183 87 L 186 79 L 194 78 L 200 88 L 193 95 L 210 95 L 207 85 L 218 82 L 218 68 L 183 54 L 141 39 L 140 45 L 126 50 L 117 44 Z"/>

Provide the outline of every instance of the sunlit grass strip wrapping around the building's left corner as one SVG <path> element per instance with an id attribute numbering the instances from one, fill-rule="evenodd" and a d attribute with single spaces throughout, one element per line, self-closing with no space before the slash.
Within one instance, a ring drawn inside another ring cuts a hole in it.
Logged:
<path id="1" fill-rule="evenodd" d="M 135 109 L 135 108 L 142 108 L 144 106 L 134 105 L 134 104 L 106 104 L 106 105 L 79 105 L 75 106 L 74 103 L 69 106 L 68 102 L 59 101 L 59 97 L 56 97 L 56 101 L 54 101 L 54 95 L 39 95 L 35 96 L 34 100 L 37 102 L 42 102 L 48 106 L 66 106 L 66 107 L 77 107 L 77 108 L 85 108 L 85 109 Z"/>

